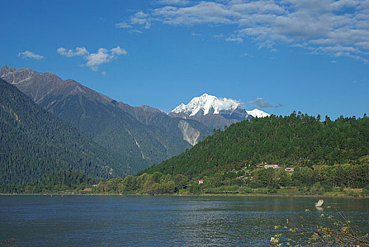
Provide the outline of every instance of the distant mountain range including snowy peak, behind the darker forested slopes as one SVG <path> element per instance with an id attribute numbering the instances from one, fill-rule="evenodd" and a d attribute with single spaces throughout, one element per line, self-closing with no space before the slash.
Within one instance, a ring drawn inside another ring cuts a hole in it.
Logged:
<path id="1" fill-rule="evenodd" d="M 214 128 L 251 119 L 253 114 L 269 115 L 257 109 L 247 112 L 235 100 L 207 94 L 166 114 L 149 106 L 131 107 L 75 80 L 30 68 L 4 66 L 0 78 L 107 151 L 115 162 L 110 167 L 114 176 L 134 174 L 179 155 Z"/>

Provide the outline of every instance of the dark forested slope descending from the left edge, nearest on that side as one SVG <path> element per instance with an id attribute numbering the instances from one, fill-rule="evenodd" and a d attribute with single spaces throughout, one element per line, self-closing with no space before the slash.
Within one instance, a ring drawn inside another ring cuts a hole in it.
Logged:
<path id="1" fill-rule="evenodd" d="M 59 169 L 127 174 L 120 159 L 0 79 L 0 185 L 30 183 Z"/>

